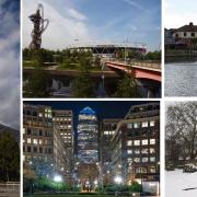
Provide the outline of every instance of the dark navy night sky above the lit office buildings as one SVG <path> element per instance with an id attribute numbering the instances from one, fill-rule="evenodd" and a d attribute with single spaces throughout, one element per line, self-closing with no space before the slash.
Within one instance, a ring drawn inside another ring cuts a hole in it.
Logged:
<path id="1" fill-rule="evenodd" d="M 124 118 L 130 106 L 150 102 L 141 101 L 34 101 L 25 102 L 35 105 L 51 106 L 53 109 L 72 109 L 74 131 L 77 129 L 78 115 L 85 106 L 95 111 L 97 118 Z"/>

